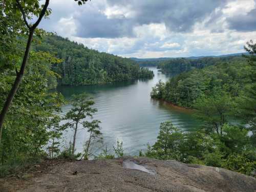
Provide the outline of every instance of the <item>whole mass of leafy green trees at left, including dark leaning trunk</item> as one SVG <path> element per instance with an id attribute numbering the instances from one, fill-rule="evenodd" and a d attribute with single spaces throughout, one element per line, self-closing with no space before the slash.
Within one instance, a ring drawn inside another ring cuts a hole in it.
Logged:
<path id="1" fill-rule="evenodd" d="M 43 32 L 38 24 L 51 13 L 48 5 L 49 0 L 0 2 L 1 169 L 46 155 L 43 147 L 52 136 L 46 125 L 63 103 L 61 95 L 48 92 L 47 79 L 54 76 L 49 68 L 58 59 L 30 53 L 33 36 Z"/>

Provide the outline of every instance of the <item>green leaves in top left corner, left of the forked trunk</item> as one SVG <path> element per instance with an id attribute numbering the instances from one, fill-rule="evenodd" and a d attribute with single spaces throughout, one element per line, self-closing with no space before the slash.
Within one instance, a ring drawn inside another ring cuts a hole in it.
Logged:
<path id="1" fill-rule="evenodd" d="M 32 17 L 38 17 L 41 12 L 38 0 L 0 2 L 0 71 L 15 69 L 21 62 L 20 57 L 24 55 L 25 41 L 20 41 L 20 38 L 27 38 L 29 30 L 17 2 L 22 7 L 28 23 L 31 22 Z M 45 16 L 50 13 L 50 9 L 46 10 Z M 35 29 L 35 34 L 39 35 L 40 31 Z"/>

